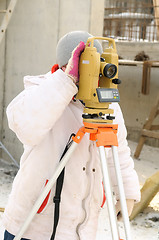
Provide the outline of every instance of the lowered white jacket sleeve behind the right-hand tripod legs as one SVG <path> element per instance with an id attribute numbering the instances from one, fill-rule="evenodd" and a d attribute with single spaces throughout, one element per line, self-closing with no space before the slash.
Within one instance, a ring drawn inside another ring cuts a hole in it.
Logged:
<path id="1" fill-rule="evenodd" d="M 131 157 L 130 148 L 127 143 L 127 131 L 123 119 L 123 115 L 119 104 L 114 104 L 114 123 L 118 124 L 118 156 L 121 167 L 121 174 L 123 178 L 123 184 L 125 189 L 125 195 L 127 199 L 134 199 L 137 202 L 140 201 L 140 185 L 137 173 L 134 169 L 134 161 Z M 119 199 L 118 185 L 116 181 L 115 170 L 112 162 L 112 152 L 109 151 L 108 154 L 109 166 L 111 169 L 111 178 L 114 186 L 114 191 L 116 193 L 117 199 Z"/>

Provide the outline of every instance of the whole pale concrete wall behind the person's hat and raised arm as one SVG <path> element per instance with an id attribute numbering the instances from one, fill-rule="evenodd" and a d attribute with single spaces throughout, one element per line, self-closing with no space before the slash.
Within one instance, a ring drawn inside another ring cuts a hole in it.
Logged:
<path id="1" fill-rule="evenodd" d="M 1 6 L 5 9 L 5 0 L 0 1 Z M 57 41 L 68 31 L 85 30 L 101 36 L 103 16 L 104 0 L 17 1 L 0 45 L 0 139 L 17 160 L 22 145 L 9 130 L 3 112 L 23 90 L 23 76 L 49 71 L 55 63 Z M 2 157 L 6 158 L 4 152 Z"/>

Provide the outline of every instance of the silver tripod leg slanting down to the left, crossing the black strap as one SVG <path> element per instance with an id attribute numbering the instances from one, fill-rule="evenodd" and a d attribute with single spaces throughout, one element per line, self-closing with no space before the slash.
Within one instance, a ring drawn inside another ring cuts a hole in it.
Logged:
<path id="1" fill-rule="evenodd" d="M 42 194 L 39 196 L 39 198 L 35 202 L 31 212 L 29 213 L 29 215 L 26 218 L 24 224 L 22 225 L 21 229 L 19 230 L 18 234 L 16 235 L 16 237 L 13 240 L 20 240 L 22 238 L 23 234 L 27 230 L 27 228 L 30 225 L 32 219 L 34 218 L 34 216 L 36 215 L 38 209 L 40 208 L 42 202 L 44 201 L 44 199 L 46 198 L 47 194 L 49 193 L 49 191 L 53 187 L 53 185 L 56 182 L 58 176 L 62 172 L 63 168 L 66 166 L 68 160 L 70 159 L 72 153 L 75 151 L 77 146 L 78 146 L 78 143 L 72 142 L 70 148 L 68 149 L 68 151 L 66 152 L 66 154 L 64 155 L 62 160 L 59 162 L 59 165 L 58 165 L 54 175 L 52 176 L 52 178 L 49 180 L 49 182 L 45 186 Z"/>

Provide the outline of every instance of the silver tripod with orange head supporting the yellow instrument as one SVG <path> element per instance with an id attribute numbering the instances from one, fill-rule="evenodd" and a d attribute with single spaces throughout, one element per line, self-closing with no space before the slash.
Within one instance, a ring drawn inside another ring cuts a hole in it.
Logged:
<path id="1" fill-rule="evenodd" d="M 45 189 L 43 190 L 40 197 L 37 199 L 35 205 L 32 208 L 32 211 L 28 215 L 26 221 L 24 222 L 23 226 L 21 227 L 19 233 L 14 238 L 14 240 L 20 240 L 21 237 L 23 236 L 24 232 L 27 230 L 30 222 L 32 221 L 35 214 L 37 213 L 39 207 L 41 206 L 45 197 L 49 193 L 50 189 L 53 187 L 53 185 L 56 182 L 61 171 L 66 166 L 72 153 L 78 147 L 78 144 L 80 144 L 85 133 L 90 134 L 90 140 L 96 141 L 96 145 L 99 149 L 101 167 L 102 167 L 102 172 L 103 172 L 103 183 L 104 183 L 104 189 L 105 189 L 105 193 L 106 193 L 106 202 L 107 202 L 107 206 L 108 206 L 109 220 L 110 220 L 110 225 L 111 225 L 112 239 L 119 240 L 120 239 L 119 229 L 118 229 L 118 224 L 117 224 L 111 181 L 110 181 L 110 177 L 109 177 L 109 169 L 108 169 L 106 153 L 105 153 L 105 147 L 112 148 L 114 166 L 115 166 L 116 177 L 117 177 L 117 182 L 118 182 L 118 187 L 119 187 L 119 196 L 120 196 L 120 202 L 121 202 L 122 217 L 123 217 L 123 222 L 124 222 L 124 230 L 125 230 L 125 237 L 126 237 L 125 240 L 131 240 L 129 217 L 128 217 L 128 212 L 127 212 L 127 205 L 126 205 L 126 200 L 125 200 L 122 176 L 121 176 L 121 172 L 120 172 L 120 164 L 119 164 L 119 160 L 118 160 L 117 128 L 118 128 L 118 126 L 115 124 L 89 123 L 89 122 L 84 121 L 84 126 L 82 128 L 80 128 L 79 131 L 77 132 L 77 134 L 75 135 L 75 137 L 72 138 L 73 141 L 72 141 L 70 148 L 68 149 L 68 151 L 66 152 L 66 154 L 64 155 L 62 160 L 59 162 L 59 165 L 58 165 L 53 177 L 50 179 L 48 184 L 45 186 Z"/>

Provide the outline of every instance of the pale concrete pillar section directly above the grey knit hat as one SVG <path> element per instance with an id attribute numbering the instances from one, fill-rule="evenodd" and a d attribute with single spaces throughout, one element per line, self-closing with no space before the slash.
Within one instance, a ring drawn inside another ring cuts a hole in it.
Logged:
<path id="1" fill-rule="evenodd" d="M 104 0 L 60 0 L 59 7 L 59 38 L 75 30 L 103 35 Z"/>

